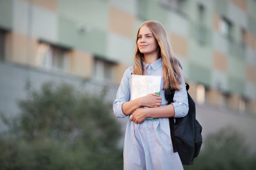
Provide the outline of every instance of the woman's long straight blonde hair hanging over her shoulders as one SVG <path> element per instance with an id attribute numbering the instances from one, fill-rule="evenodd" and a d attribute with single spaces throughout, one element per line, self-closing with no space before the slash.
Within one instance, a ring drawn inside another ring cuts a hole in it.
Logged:
<path id="1" fill-rule="evenodd" d="M 162 58 L 163 66 L 163 78 L 164 78 L 164 89 L 167 89 L 169 85 L 172 89 L 179 90 L 181 89 L 181 75 L 179 71 L 180 62 L 173 55 L 172 48 L 167 36 L 167 32 L 164 29 L 164 26 L 158 21 L 145 21 L 143 22 L 136 35 L 136 46 L 133 54 L 133 59 L 135 65 L 133 66 L 133 74 L 145 75 L 145 70 L 142 66 L 142 60 L 144 60 L 144 54 L 140 53 L 140 50 L 137 45 L 138 34 L 142 26 L 148 27 L 148 29 L 153 33 L 156 41 L 160 47 L 159 56 Z M 177 79 L 175 77 L 177 75 Z M 163 89 L 163 90 L 164 90 Z"/>

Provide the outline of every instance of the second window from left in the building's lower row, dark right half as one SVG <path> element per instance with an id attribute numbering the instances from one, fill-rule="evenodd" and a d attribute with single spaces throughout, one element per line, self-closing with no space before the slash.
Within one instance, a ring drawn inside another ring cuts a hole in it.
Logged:
<path id="1" fill-rule="evenodd" d="M 39 42 L 36 51 L 36 65 L 46 69 L 68 71 L 67 49 Z"/>

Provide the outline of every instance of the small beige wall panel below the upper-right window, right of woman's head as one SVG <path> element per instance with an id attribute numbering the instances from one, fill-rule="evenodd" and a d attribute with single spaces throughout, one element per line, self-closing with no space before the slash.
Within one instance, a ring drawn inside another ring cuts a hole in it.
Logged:
<path id="1" fill-rule="evenodd" d="M 223 72 L 227 71 L 227 57 L 216 50 L 213 52 L 213 67 Z"/>

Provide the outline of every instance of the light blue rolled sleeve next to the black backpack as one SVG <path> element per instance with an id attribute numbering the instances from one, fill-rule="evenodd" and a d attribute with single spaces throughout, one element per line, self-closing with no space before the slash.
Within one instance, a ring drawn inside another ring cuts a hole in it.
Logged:
<path id="1" fill-rule="evenodd" d="M 185 117 L 188 114 L 188 94 L 186 90 L 183 72 L 180 68 L 181 84 L 180 91 L 176 90 L 173 96 L 174 118 Z"/>

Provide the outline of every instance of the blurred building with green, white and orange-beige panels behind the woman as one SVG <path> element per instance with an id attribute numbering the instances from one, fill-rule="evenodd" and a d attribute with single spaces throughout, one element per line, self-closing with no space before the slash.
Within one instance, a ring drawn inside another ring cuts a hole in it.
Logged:
<path id="1" fill-rule="evenodd" d="M 49 80 L 116 87 L 146 20 L 167 30 L 203 137 L 230 124 L 256 151 L 255 0 L 0 0 L 0 112 Z"/>

